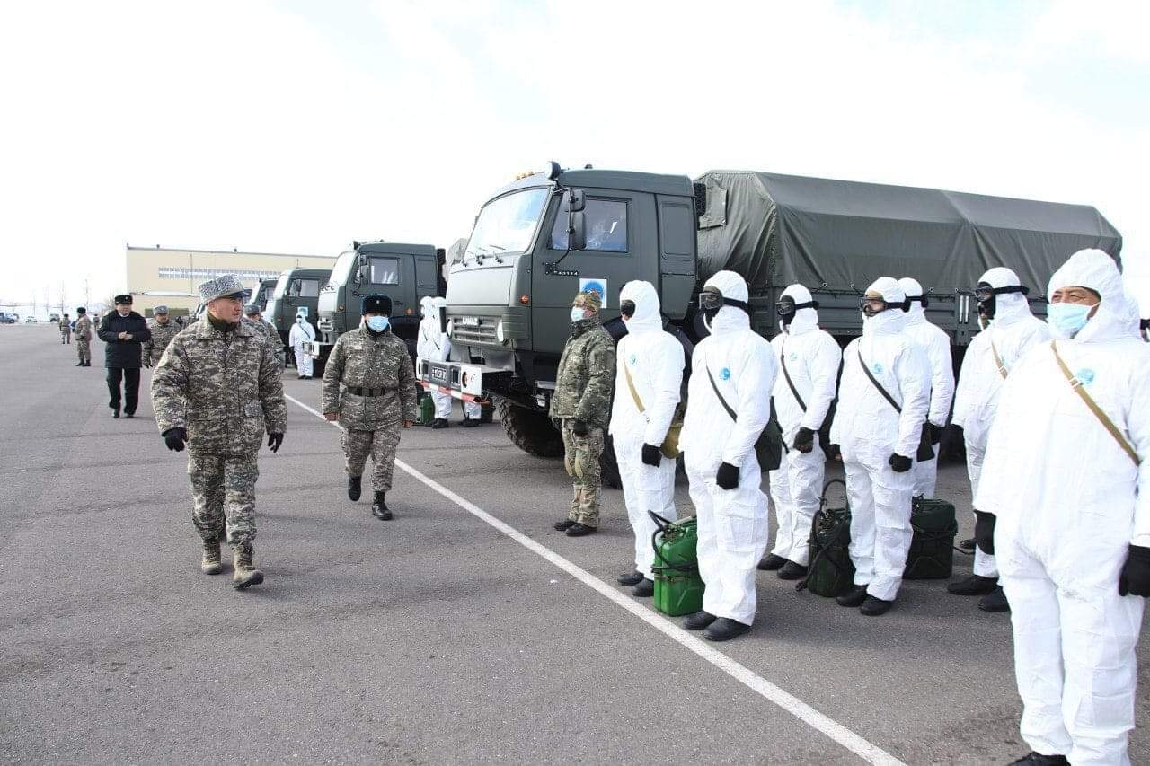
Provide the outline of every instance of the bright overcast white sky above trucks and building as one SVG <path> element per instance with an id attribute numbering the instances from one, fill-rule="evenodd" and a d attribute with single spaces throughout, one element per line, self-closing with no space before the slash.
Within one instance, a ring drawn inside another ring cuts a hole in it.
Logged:
<path id="1" fill-rule="evenodd" d="M 1147 305 L 1148 30 L 1098 1 L 5 2 L 0 300 L 94 302 L 129 242 L 445 247 L 555 159 L 1095 205 Z"/>

